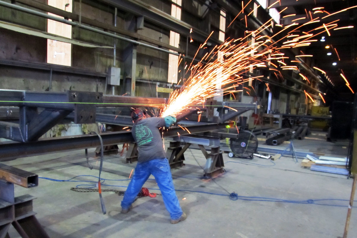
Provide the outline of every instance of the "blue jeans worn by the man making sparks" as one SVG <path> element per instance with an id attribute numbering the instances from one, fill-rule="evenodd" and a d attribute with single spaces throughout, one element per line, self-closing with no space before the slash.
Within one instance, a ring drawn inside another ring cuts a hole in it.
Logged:
<path id="1" fill-rule="evenodd" d="M 167 211 L 170 213 L 171 219 L 179 219 L 182 215 L 182 210 L 175 193 L 174 183 L 172 182 L 170 165 L 166 158 L 137 163 L 134 175 L 121 201 L 121 207 L 125 209 L 130 207 L 150 174 L 156 179 L 162 194 L 162 199 L 164 200 Z"/>

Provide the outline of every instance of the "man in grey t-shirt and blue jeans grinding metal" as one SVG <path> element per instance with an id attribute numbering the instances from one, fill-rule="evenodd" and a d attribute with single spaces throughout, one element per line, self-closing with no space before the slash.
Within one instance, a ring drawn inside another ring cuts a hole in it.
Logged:
<path id="1" fill-rule="evenodd" d="M 170 222 L 176 224 L 185 220 L 186 214 L 182 212 L 175 193 L 170 165 L 159 131 L 160 127 L 169 127 L 175 123 L 176 118 L 149 117 L 140 109 L 132 111 L 131 118 L 134 122 L 131 133 L 137 143 L 139 156 L 134 175 L 121 201 L 121 213 L 129 212 L 141 187 L 152 174 L 160 188 L 166 209 L 170 213 Z"/>

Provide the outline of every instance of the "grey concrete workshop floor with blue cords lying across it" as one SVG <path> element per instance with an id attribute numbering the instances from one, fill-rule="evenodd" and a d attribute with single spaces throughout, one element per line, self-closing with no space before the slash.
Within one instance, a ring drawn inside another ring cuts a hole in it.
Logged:
<path id="1" fill-rule="evenodd" d="M 330 143 L 325 134 L 314 133 L 305 140 L 294 140 L 296 150 L 317 151 L 345 157 L 347 141 Z M 286 145 L 282 145 L 285 147 Z M 91 156 L 93 149 L 89 150 Z M 336 155 L 336 153 L 339 153 Z M 194 158 L 196 158 L 197 162 Z M 274 163 L 267 159 L 228 158 L 223 154 L 226 173 L 215 182 L 202 181 L 200 166 L 205 158 L 200 150 L 189 149 L 185 153 L 186 166 L 173 169 L 175 188 L 178 190 L 202 191 L 228 195 L 278 198 L 291 201 L 308 199 L 349 199 L 352 179 L 337 174 L 310 171 L 295 163 L 291 157 L 282 157 Z M 91 158 L 97 168 L 99 161 Z M 70 179 L 79 175 L 98 176 L 98 170 L 85 167 L 84 150 L 62 152 L 44 156 L 20 158 L 4 162 L 8 165 L 39 174 L 39 177 Z M 125 158 L 105 157 L 104 179 L 127 179 L 135 164 L 125 164 Z M 96 181 L 94 177 L 78 177 L 77 181 Z M 129 181 L 105 181 L 104 184 L 127 186 Z M 323 237 L 342 236 L 347 214 L 347 201 L 316 201 L 298 204 L 287 202 L 232 201 L 228 196 L 207 193 L 177 191 L 182 209 L 187 213 L 184 222 L 172 225 L 169 214 L 160 196 L 139 198 L 132 211 L 120 213 L 122 197 L 114 192 L 104 192 L 107 214 L 100 208 L 98 193 L 70 191 L 79 184 L 89 182 L 54 182 L 39 179 L 39 186 L 25 189 L 15 186 L 15 196 L 30 194 L 34 200 L 34 211 L 50 237 L 66 238 L 117 238 L 117 237 Z M 84 186 L 85 187 L 85 186 Z M 125 187 L 106 187 L 125 190 Z M 155 180 L 145 187 L 157 188 Z M 227 190 L 228 192 L 226 192 Z M 151 192 L 158 192 L 150 189 Z M 183 198 L 186 198 L 182 200 Z M 247 198 L 254 200 L 257 198 Z M 356 199 L 357 200 L 357 199 Z M 357 234 L 357 208 L 352 210 L 348 237 Z M 11 228 L 10 237 L 19 237 Z"/>

